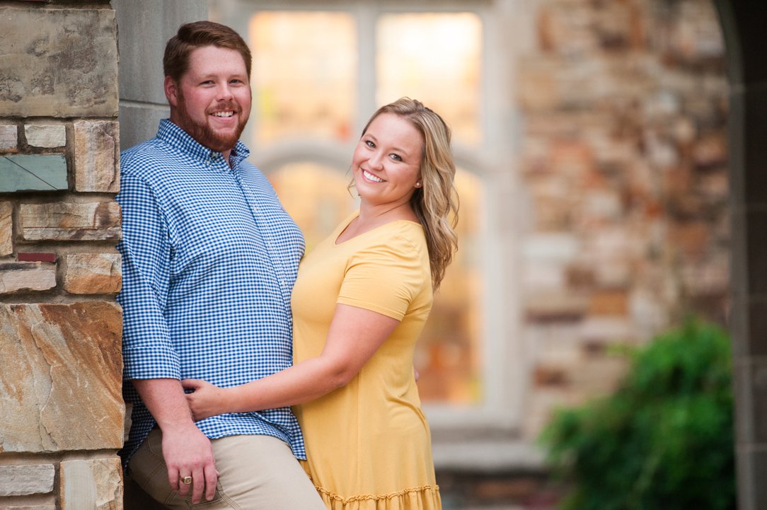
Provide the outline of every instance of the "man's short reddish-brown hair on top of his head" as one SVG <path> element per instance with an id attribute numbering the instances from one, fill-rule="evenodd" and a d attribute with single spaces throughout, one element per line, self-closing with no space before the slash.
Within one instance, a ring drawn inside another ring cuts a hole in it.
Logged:
<path id="1" fill-rule="evenodd" d="M 197 48 L 216 46 L 239 51 L 250 77 L 252 57 L 248 44 L 232 28 L 213 21 L 193 21 L 179 27 L 178 33 L 168 40 L 163 56 L 163 72 L 179 81 L 189 70 L 189 54 Z"/>

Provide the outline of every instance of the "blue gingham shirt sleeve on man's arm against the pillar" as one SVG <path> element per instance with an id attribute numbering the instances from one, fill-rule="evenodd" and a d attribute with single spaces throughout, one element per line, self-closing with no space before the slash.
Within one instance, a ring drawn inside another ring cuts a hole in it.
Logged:
<path id="1" fill-rule="evenodd" d="M 150 186 L 123 175 L 117 202 L 123 212 L 123 380 L 176 378 L 179 355 L 164 317 L 172 246 L 166 220 Z"/>

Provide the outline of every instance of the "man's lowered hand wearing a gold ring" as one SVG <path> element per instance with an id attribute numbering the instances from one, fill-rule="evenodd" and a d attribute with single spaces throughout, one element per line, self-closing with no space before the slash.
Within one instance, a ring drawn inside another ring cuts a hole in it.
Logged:
<path id="1" fill-rule="evenodd" d="M 203 492 L 207 501 L 212 500 L 219 473 L 210 439 L 196 426 L 163 429 L 163 457 L 168 466 L 170 487 L 177 490 L 182 498 L 186 498 L 191 488 L 193 504 L 202 501 Z M 191 484 L 183 482 L 186 476 L 192 477 Z"/>

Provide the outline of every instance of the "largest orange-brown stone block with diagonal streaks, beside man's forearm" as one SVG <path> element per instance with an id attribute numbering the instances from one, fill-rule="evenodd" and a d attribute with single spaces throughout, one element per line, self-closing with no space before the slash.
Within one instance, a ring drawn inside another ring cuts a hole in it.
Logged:
<path id="1" fill-rule="evenodd" d="M 0 451 L 122 447 L 121 331 L 111 301 L 0 304 Z"/>

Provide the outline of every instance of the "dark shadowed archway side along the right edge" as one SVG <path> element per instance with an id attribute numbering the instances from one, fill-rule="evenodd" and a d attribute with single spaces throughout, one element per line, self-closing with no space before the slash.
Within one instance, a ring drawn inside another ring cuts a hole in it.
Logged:
<path id="1" fill-rule="evenodd" d="M 730 84 L 730 266 L 741 510 L 767 508 L 767 5 L 716 0 Z"/>

